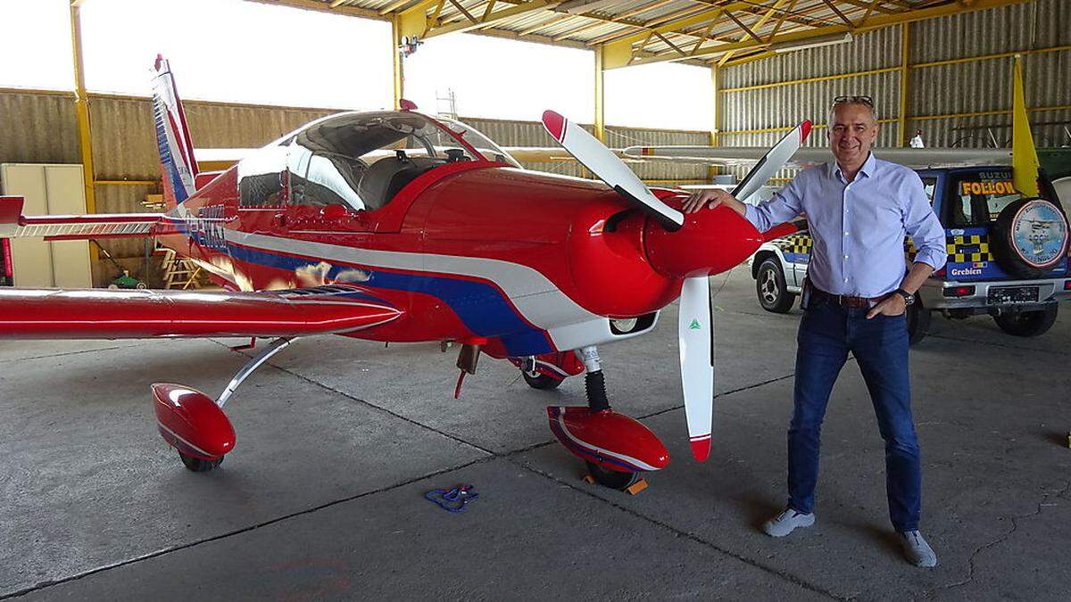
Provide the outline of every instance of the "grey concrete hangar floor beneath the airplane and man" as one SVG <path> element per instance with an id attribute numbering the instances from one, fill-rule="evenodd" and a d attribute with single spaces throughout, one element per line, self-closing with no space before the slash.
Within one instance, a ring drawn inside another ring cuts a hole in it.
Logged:
<path id="1" fill-rule="evenodd" d="M 763 312 L 738 268 L 713 281 L 711 458 L 692 461 L 676 310 L 602 349 L 616 409 L 674 461 L 632 497 L 585 483 L 544 406 L 484 358 L 453 400 L 437 345 L 296 343 L 228 404 L 238 446 L 195 475 L 155 433 L 149 385 L 216 394 L 245 358 L 214 341 L 0 343 L 0 599 L 727 598 L 1066 600 L 1071 578 L 1071 306 L 1036 340 L 947 321 L 911 352 L 923 532 L 900 556 L 883 443 L 849 362 L 824 430 L 817 525 L 784 503 L 799 312 Z M 473 483 L 450 514 L 424 492 Z"/>

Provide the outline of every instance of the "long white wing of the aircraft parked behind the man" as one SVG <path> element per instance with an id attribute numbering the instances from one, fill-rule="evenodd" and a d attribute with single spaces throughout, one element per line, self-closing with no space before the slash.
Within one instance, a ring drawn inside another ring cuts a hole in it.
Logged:
<path id="1" fill-rule="evenodd" d="M 758 161 L 770 149 L 766 147 L 629 147 L 625 156 L 654 161 L 676 161 L 731 167 Z M 876 148 L 878 159 L 912 168 L 969 167 L 976 165 L 1011 165 L 1011 149 L 911 149 Z M 785 167 L 810 167 L 827 163 L 833 154 L 825 147 L 805 147 L 796 151 Z"/>

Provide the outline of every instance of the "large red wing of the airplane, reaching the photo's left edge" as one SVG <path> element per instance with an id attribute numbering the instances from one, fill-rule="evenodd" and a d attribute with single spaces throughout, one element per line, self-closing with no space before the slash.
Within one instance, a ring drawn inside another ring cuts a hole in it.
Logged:
<path id="1" fill-rule="evenodd" d="M 277 292 L 0 288 L 0 338 L 299 336 L 361 330 L 402 315 L 361 297 L 338 286 Z"/>

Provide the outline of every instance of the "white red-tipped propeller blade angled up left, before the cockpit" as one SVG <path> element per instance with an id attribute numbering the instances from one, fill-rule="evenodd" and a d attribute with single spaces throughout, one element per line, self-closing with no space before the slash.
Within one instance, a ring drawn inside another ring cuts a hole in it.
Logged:
<path id="1" fill-rule="evenodd" d="M 543 111 L 543 126 L 576 161 L 667 229 L 676 230 L 684 225 L 683 213 L 659 200 L 623 161 L 586 130 L 553 110 Z"/>

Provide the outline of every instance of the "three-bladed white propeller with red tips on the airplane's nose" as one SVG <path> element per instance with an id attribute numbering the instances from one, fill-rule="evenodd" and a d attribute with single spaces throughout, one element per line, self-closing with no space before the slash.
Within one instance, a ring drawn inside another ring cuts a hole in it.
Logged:
<path id="1" fill-rule="evenodd" d="M 678 247 L 678 252 L 674 253 L 673 260 L 663 264 L 663 269 L 684 279 L 680 294 L 680 314 L 677 321 L 681 388 L 684 393 L 684 415 L 688 419 L 688 435 L 692 455 L 698 461 L 704 461 L 710 455 L 714 405 L 714 323 L 710 307 L 709 275 L 721 264 L 711 262 L 710 255 L 706 255 L 703 249 L 697 249 L 704 245 L 693 242 L 699 240 L 707 242 L 704 239 L 709 240 L 709 237 L 702 236 L 704 232 L 690 232 L 689 230 L 700 228 L 704 223 L 710 222 L 697 219 L 685 220 L 683 213 L 654 196 L 632 169 L 629 169 L 628 165 L 594 136 L 588 134 L 583 127 L 571 123 L 561 115 L 553 110 L 544 111 L 543 125 L 558 144 L 576 157 L 580 164 L 630 202 L 658 220 L 668 230 L 664 236 L 657 238 L 666 240 L 680 238 L 679 241 L 676 241 L 678 244 L 673 244 L 673 246 Z M 785 135 L 748 172 L 733 191 L 733 196 L 743 199 L 754 194 L 773 174 L 784 167 L 785 163 L 803 145 L 810 133 L 811 122 L 804 121 Z M 682 231 L 678 232 L 678 230 Z M 689 251 L 681 253 L 679 252 L 680 247 L 689 249 Z M 743 257 L 739 259 L 742 260 Z"/>

